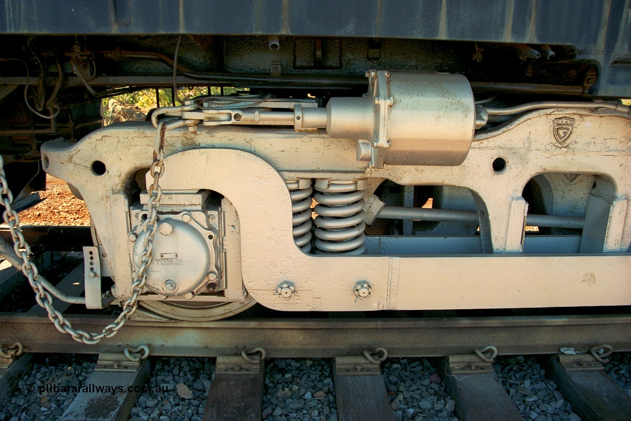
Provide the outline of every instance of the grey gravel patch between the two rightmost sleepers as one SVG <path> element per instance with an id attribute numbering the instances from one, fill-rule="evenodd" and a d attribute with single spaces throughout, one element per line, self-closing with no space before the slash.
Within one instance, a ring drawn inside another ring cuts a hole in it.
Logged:
<path id="1" fill-rule="evenodd" d="M 525 420 L 581 420 L 534 357 L 499 357 L 493 367 Z"/>

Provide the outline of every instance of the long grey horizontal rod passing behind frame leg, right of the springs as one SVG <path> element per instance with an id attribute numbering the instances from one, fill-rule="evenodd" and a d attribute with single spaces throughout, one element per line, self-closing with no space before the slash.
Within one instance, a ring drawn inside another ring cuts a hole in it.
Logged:
<path id="1" fill-rule="evenodd" d="M 377 217 L 382 219 L 414 219 L 415 221 L 478 223 L 478 213 L 475 210 L 384 206 Z M 526 216 L 526 225 L 529 226 L 582 229 L 584 224 L 585 218 L 575 216 L 534 214 Z"/>

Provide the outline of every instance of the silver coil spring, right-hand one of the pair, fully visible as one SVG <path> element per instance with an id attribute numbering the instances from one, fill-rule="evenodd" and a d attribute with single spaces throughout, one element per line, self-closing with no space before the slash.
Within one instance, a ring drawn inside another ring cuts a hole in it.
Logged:
<path id="1" fill-rule="evenodd" d="M 323 253 L 363 254 L 366 250 L 363 233 L 363 190 L 355 184 L 315 186 L 315 247 Z"/>

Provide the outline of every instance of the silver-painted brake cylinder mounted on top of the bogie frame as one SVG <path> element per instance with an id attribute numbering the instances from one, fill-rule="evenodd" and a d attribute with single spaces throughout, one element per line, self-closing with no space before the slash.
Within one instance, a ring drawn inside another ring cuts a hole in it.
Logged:
<path id="1" fill-rule="evenodd" d="M 365 97 L 331 98 L 327 133 L 377 142 L 376 147 L 384 148 L 380 153 L 386 164 L 461 164 L 475 131 L 475 100 L 468 80 L 445 73 L 384 74 L 371 77 Z"/>

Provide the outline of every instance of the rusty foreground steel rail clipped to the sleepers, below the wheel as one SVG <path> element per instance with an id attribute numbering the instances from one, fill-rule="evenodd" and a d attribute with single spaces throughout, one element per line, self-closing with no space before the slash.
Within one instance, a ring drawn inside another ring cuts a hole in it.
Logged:
<path id="1" fill-rule="evenodd" d="M 111 316 L 69 316 L 73 327 L 100 330 Z M 261 346 L 271 358 L 357 355 L 384 346 L 392 357 L 436 357 L 497 346 L 500 355 L 558 353 L 609 343 L 631 350 L 631 314 L 410 319 L 250 319 L 217 322 L 129 321 L 98 345 L 76 343 L 47 317 L 0 314 L 0 343 L 28 352 L 100 353 L 146 344 L 151 355 L 216 357 Z"/>

